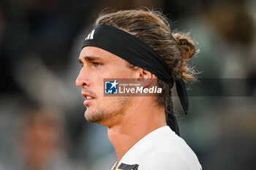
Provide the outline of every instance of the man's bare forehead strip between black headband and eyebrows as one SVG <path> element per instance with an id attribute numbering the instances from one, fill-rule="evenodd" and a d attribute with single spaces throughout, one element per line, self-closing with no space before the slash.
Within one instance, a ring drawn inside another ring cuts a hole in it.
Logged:
<path id="1" fill-rule="evenodd" d="M 103 50 L 99 47 L 87 46 L 81 50 L 79 59 L 83 60 L 85 57 L 97 57 L 104 60 L 123 61 L 124 59 L 119 58 L 117 55 Z"/>

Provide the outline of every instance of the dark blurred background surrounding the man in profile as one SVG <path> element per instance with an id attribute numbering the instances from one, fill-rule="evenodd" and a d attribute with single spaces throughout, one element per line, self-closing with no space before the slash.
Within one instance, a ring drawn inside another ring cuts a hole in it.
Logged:
<path id="1" fill-rule="evenodd" d="M 83 115 L 78 55 L 102 9 L 141 6 L 162 10 L 172 31 L 191 32 L 200 78 L 254 80 L 204 85 L 189 97 L 187 116 L 173 100 L 181 136 L 203 169 L 256 169 L 255 0 L 1 0 L 0 170 L 113 166 L 107 128 Z M 228 93 L 241 89 L 252 93 Z"/>

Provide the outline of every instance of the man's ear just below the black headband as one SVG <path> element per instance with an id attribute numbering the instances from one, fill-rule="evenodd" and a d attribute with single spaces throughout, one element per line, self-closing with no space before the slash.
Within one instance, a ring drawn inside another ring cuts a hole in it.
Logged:
<path id="1" fill-rule="evenodd" d="M 156 78 L 155 75 L 141 68 L 138 71 L 140 72 L 140 77 L 137 81 L 141 86 L 143 86 L 143 88 L 149 87 L 152 84 L 154 78 Z"/>

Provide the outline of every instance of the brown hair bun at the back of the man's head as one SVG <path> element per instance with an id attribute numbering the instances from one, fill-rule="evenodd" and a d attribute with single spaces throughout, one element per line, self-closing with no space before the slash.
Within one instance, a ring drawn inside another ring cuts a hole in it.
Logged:
<path id="1" fill-rule="evenodd" d="M 178 45 L 181 47 L 183 53 L 182 57 L 184 59 L 192 58 L 192 56 L 195 55 L 196 51 L 195 43 L 192 41 L 192 39 L 184 34 L 174 34 L 173 36 L 178 42 Z"/>

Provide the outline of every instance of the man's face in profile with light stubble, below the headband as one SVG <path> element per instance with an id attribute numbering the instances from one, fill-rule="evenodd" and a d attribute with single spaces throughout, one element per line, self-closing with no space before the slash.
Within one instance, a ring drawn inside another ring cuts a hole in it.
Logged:
<path id="1" fill-rule="evenodd" d="M 138 72 L 127 67 L 127 61 L 98 47 L 84 47 L 79 61 L 82 69 L 76 85 L 86 98 L 86 120 L 108 125 L 118 120 L 130 105 L 130 98 L 104 96 L 104 78 L 136 78 Z"/>

